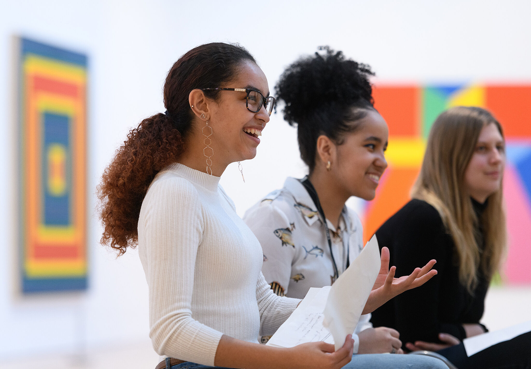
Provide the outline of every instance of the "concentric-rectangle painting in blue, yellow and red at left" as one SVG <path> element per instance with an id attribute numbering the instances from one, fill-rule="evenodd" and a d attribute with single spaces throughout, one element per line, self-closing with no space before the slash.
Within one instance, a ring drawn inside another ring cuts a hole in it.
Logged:
<path id="1" fill-rule="evenodd" d="M 19 46 L 19 245 L 23 293 L 87 288 L 87 56 Z"/>

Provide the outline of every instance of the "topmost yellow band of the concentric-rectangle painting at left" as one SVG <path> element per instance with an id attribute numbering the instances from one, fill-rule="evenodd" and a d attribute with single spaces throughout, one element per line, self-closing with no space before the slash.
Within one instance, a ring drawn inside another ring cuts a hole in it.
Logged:
<path id="1" fill-rule="evenodd" d="M 37 73 L 59 81 L 72 81 L 85 84 L 87 70 L 66 62 L 55 62 L 53 59 L 27 54 L 24 61 L 24 71 L 28 74 Z"/>

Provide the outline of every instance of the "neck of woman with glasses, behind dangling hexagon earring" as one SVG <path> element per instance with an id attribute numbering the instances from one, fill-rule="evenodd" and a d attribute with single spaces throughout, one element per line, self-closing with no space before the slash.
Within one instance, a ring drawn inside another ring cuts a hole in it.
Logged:
<path id="1" fill-rule="evenodd" d="M 182 153 L 181 157 L 179 157 L 179 162 L 189 168 L 207 173 L 207 157 L 204 156 L 203 152 L 206 145 L 203 143 L 203 139 L 204 137 L 201 132 L 199 132 L 199 134 L 191 132 L 186 139 L 184 144 L 185 151 Z M 225 162 L 224 158 L 218 154 L 221 153 L 221 150 L 216 149 L 213 142 L 210 144 L 210 147 L 213 149 L 214 155 L 210 158 L 210 160 L 212 160 L 212 165 L 210 166 L 212 173 L 210 173 L 209 170 L 208 174 L 221 177 L 230 163 Z"/>

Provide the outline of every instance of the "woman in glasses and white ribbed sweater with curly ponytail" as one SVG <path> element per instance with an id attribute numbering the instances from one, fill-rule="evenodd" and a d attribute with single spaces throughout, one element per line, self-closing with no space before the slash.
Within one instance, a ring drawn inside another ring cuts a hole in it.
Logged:
<path id="1" fill-rule="evenodd" d="M 198 46 L 168 73 L 166 112 L 132 130 L 105 169 L 101 242 L 119 255 L 139 247 L 150 337 L 165 357 L 157 369 L 339 369 L 350 362 L 350 337 L 335 352 L 324 342 L 258 344 L 299 299 L 269 288 L 260 243 L 219 179 L 230 163 L 254 158 L 274 103 L 247 50 Z M 388 299 L 381 296 L 377 306 Z"/>

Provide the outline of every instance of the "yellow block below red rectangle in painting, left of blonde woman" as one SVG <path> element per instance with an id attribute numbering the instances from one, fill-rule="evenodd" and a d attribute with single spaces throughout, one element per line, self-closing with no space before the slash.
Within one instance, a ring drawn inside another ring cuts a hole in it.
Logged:
<path id="1" fill-rule="evenodd" d="M 422 139 L 390 137 L 386 160 L 399 168 L 418 168 L 422 164 L 426 142 Z"/>

